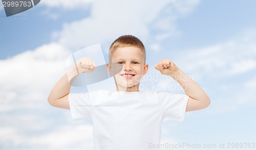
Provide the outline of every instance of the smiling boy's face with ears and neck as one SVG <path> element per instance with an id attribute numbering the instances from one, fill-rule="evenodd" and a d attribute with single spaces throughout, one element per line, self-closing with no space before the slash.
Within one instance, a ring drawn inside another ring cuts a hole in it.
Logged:
<path id="1" fill-rule="evenodd" d="M 117 48 L 112 55 L 112 65 L 107 65 L 109 72 L 115 72 L 114 70 L 118 69 L 115 66 L 120 65 L 121 71 L 114 73 L 117 90 L 139 91 L 140 80 L 148 69 L 148 65 L 144 64 L 141 49 L 134 46 Z"/>

